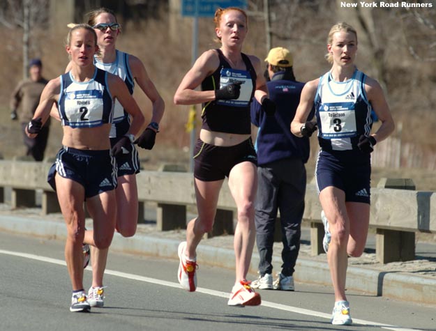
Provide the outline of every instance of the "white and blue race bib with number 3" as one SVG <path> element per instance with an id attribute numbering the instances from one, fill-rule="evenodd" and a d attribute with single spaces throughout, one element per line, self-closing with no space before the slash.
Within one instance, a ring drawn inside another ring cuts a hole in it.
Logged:
<path id="1" fill-rule="evenodd" d="M 324 103 L 319 111 L 322 138 L 340 139 L 356 135 L 353 102 Z"/>

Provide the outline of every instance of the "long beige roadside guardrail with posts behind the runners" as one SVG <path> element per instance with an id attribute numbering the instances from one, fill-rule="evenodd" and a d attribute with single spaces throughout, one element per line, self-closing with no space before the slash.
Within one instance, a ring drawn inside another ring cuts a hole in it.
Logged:
<path id="1" fill-rule="evenodd" d="M 59 213 L 57 195 L 47 183 L 51 164 L 0 160 L 0 199 L 3 187 L 11 187 L 12 208 L 34 207 L 35 190 L 42 190 L 41 214 Z M 157 203 L 156 226 L 160 231 L 186 228 L 186 208 L 195 206 L 193 174 L 175 171 L 142 171 L 137 174 L 140 210 L 144 203 Z M 388 188 L 391 187 L 391 188 Z M 376 253 L 379 262 L 409 261 L 415 257 L 415 233 L 436 233 L 436 193 L 414 190 L 409 179 L 385 179 L 371 192 L 370 227 L 376 229 Z M 303 218 L 310 223 L 313 255 L 323 252 L 324 227 L 315 185 L 306 187 Z M 236 205 L 227 185 L 218 200 L 213 232 L 207 236 L 233 233 Z M 140 213 L 140 220 L 144 219 Z"/>

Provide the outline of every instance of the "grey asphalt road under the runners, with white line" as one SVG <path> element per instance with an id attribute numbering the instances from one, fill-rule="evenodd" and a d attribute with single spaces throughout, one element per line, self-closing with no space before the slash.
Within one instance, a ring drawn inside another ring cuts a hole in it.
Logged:
<path id="1" fill-rule="evenodd" d="M 0 263 L 0 330 L 436 330 L 435 307 L 363 293 L 348 294 L 354 325 L 331 325 L 331 288 L 298 283 L 295 292 L 260 291 L 260 307 L 228 307 L 232 270 L 200 265 L 199 288 L 188 293 L 178 261 L 117 253 L 105 307 L 71 313 L 62 241 L 0 232 Z"/>

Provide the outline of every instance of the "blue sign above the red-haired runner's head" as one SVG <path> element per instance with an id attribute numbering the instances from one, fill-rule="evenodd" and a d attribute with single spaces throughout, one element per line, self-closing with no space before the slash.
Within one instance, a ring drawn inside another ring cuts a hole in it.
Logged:
<path id="1" fill-rule="evenodd" d="M 247 8 L 247 0 L 182 0 L 181 15 L 197 17 L 213 17 L 216 8 Z"/>

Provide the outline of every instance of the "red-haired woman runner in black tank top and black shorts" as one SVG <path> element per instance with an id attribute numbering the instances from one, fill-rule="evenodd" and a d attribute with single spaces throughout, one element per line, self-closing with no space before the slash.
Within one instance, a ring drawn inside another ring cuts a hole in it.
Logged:
<path id="1" fill-rule="evenodd" d="M 234 233 L 236 279 L 231 282 L 230 306 L 260 305 L 246 279 L 255 242 L 254 199 L 256 155 L 250 137 L 250 101 L 254 95 L 264 111 L 275 111 L 255 56 L 241 52 L 247 33 L 247 15 L 239 8 L 218 8 L 216 37 L 220 49 L 204 52 L 183 78 L 174 95 L 176 105 L 203 104 L 203 125 L 195 148 L 195 187 L 198 217 L 191 220 L 186 241 L 179 245 L 177 277 L 183 288 L 197 286 L 196 249 L 204 233 L 211 231 L 220 187 L 228 177 L 238 209 Z M 202 91 L 196 91 L 197 86 Z"/>

